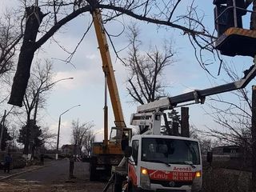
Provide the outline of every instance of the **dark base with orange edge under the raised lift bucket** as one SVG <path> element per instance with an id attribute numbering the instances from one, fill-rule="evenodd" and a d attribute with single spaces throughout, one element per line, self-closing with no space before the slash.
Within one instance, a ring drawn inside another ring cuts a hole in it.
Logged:
<path id="1" fill-rule="evenodd" d="M 256 30 L 230 27 L 216 40 L 215 47 L 220 50 L 221 54 L 227 56 L 254 57 L 256 54 Z"/>

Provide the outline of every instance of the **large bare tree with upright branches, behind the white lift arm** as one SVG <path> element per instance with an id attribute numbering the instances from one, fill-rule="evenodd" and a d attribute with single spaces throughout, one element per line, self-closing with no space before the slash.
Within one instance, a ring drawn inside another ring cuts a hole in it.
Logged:
<path id="1" fill-rule="evenodd" d="M 166 95 L 162 75 L 166 67 L 174 63 L 173 47 L 171 43 L 165 42 L 162 51 L 155 47 L 143 53 L 139 50 L 142 42 L 139 41 L 139 29 L 136 25 L 130 26 L 129 42 L 129 56 L 124 60 L 129 73 L 126 89 L 134 102 L 154 102 Z"/>

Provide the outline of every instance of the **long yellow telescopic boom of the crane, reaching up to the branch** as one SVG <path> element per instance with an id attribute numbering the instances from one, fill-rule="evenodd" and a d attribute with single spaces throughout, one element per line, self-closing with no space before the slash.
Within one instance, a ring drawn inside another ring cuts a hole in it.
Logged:
<path id="1" fill-rule="evenodd" d="M 103 72 L 107 75 L 107 86 L 110 93 L 110 100 L 114 112 L 114 119 L 116 122 L 124 122 L 121 102 L 118 94 L 118 86 L 114 77 L 114 70 L 110 58 L 110 50 L 106 41 L 106 34 L 104 26 L 102 25 L 102 14 L 100 10 L 94 10 L 93 19 L 94 28 L 98 39 L 98 46 L 102 56 L 102 69 Z"/>

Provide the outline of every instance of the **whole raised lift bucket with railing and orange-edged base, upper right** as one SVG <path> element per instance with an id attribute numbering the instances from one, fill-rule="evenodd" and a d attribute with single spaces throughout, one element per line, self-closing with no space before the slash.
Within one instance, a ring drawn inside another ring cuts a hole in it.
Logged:
<path id="1" fill-rule="evenodd" d="M 251 56 L 256 54 L 256 30 L 242 28 L 242 16 L 247 12 L 244 0 L 214 0 L 215 47 L 221 54 Z"/>

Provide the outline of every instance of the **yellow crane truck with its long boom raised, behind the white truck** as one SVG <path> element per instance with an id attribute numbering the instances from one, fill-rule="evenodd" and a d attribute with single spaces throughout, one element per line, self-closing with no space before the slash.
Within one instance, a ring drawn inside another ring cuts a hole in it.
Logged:
<path id="1" fill-rule="evenodd" d="M 94 2 L 97 3 L 97 0 Z M 98 48 L 102 58 L 102 70 L 105 74 L 104 140 L 103 142 L 93 142 L 90 153 L 90 181 L 95 181 L 100 177 L 106 178 L 110 176 L 111 166 L 117 166 L 122 160 L 122 134 L 125 134 L 127 138 L 131 138 L 131 129 L 127 128 L 124 122 L 110 50 L 106 40 L 105 28 L 102 24 L 101 10 L 94 9 L 92 16 L 98 39 Z M 110 131 L 110 139 L 108 139 L 107 88 L 115 119 L 115 126 Z"/>

